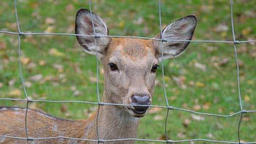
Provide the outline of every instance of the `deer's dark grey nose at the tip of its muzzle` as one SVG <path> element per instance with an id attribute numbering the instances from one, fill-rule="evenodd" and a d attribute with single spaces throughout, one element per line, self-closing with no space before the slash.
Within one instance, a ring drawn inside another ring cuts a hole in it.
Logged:
<path id="1" fill-rule="evenodd" d="M 136 106 L 136 105 L 150 105 L 150 97 L 148 95 L 131 97 L 131 104 L 134 105 L 136 111 L 146 111 L 149 106 Z"/>

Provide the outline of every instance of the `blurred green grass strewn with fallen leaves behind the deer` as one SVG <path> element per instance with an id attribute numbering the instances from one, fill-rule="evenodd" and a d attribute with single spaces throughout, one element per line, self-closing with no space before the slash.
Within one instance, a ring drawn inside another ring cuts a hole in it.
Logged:
<path id="1" fill-rule="evenodd" d="M 20 28 L 23 32 L 75 33 L 76 11 L 89 9 L 88 4 L 86 0 L 18 0 Z M 106 22 L 109 35 L 154 37 L 159 33 L 157 0 L 93 0 L 92 10 Z M 229 0 L 162 0 L 163 28 L 189 14 L 198 18 L 193 40 L 233 41 Z M 255 19 L 255 0 L 234 1 L 237 40 L 256 39 Z M 0 1 L 0 30 L 17 32 L 13 0 Z M 22 36 L 21 53 L 25 86 L 32 99 L 97 102 L 96 58 L 83 52 L 75 36 Z M 255 110 L 256 43 L 238 44 L 237 53 L 242 105 Z M 183 55 L 164 61 L 164 72 L 170 105 L 223 115 L 240 111 L 233 44 L 190 43 Z M 99 82 L 102 94 L 101 65 Z M 0 97 L 25 98 L 19 77 L 17 35 L 0 34 Z M 26 102 L 0 101 L 0 105 L 25 107 Z M 157 72 L 153 105 L 166 105 L 161 69 Z M 66 119 L 86 119 L 97 105 L 32 102 L 29 108 Z M 137 138 L 165 140 L 166 111 L 151 108 L 141 120 Z M 168 117 L 169 139 L 238 141 L 240 115 L 222 118 L 170 110 Z M 242 141 L 256 141 L 255 122 L 256 114 L 243 115 Z"/>

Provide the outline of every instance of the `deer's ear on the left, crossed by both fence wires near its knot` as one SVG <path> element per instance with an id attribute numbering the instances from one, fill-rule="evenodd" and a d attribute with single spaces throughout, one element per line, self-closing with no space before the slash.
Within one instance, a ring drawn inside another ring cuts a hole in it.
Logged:
<path id="1" fill-rule="evenodd" d="M 107 36 L 109 34 L 108 28 L 103 20 L 92 13 L 92 18 L 90 11 L 88 9 L 81 8 L 75 17 L 75 33 L 81 35 L 95 36 L 92 26 L 92 19 L 95 28 L 96 36 Z M 86 37 L 86 36 L 76 36 L 79 44 L 83 49 L 90 54 L 96 55 L 95 47 L 95 37 Z M 104 50 L 108 46 L 110 38 L 100 37 L 96 39 L 97 44 L 97 53 L 101 57 L 104 53 Z"/>

